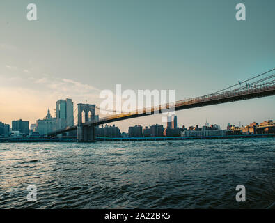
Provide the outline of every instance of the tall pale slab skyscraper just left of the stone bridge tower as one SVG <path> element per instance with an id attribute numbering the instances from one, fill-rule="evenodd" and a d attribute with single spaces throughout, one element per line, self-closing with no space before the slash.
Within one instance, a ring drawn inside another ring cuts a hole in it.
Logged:
<path id="1" fill-rule="evenodd" d="M 72 99 L 56 102 L 56 130 L 74 125 L 74 103 Z"/>

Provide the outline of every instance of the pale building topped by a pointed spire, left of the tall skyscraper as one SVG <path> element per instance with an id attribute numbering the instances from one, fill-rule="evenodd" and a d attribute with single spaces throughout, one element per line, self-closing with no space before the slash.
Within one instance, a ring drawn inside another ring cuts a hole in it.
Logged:
<path id="1" fill-rule="evenodd" d="M 38 119 L 36 121 L 35 132 L 38 132 L 40 135 L 47 134 L 56 130 L 56 118 L 53 118 L 51 112 L 47 112 L 47 115 L 43 119 Z"/>

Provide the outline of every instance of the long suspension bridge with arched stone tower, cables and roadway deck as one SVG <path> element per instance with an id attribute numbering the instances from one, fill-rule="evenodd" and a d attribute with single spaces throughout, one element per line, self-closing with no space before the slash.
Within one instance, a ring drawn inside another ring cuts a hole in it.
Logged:
<path id="1" fill-rule="evenodd" d="M 248 100 L 253 98 L 262 98 L 275 95 L 275 68 L 262 72 L 244 81 L 237 80 L 235 84 L 221 89 L 214 93 L 203 95 L 186 100 L 169 102 L 164 105 L 145 107 L 131 112 L 118 112 L 106 117 L 95 119 L 96 110 L 100 109 L 96 105 L 77 104 L 77 125 L 69 126 L 54 132 L 49 132 L 47 137 L 54 137 L 58 134 L 77 130 L 77 141 L 87 142 L 95 141 L 95 127 L 104 123 L 113 123 L 129 118 L 137 118 L 153 114 L 169 112 L 171 110 L 179 111 L 191 109 L 194 107 L 203 107 L 207 105 L 217 105 L 239 100 Z M 84 113 L 84 117 L 82 114 Z M 89 116 L 91 114 L 91 116 Z"/>

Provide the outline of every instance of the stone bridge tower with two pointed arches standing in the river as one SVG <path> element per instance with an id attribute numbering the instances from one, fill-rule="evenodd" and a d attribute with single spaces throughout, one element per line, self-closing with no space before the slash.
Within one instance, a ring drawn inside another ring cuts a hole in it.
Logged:
<path id="1" fill-rule="evenodd" d="M 77 104 L 77 108 L 78 108 L 77 141 L 78 142 L 95 141 L 95 126 L 83 125 L 88 121 L 95 120 L 95 105 Z M 83 112 L 85 114 L 84 120 L 82 120 Z M 91 114 L 91 116 L 89 116 L 89 113 Z M 89 118 L 91 119 L 89 120 Z"/>

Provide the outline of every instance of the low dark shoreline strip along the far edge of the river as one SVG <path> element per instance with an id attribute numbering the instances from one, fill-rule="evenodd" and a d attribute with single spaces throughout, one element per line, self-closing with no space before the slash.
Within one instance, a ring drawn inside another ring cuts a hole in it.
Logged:
<path id="1" fill-rule="evenodd" d="M 128 138 L 108 138 L 97 137 L 96 141 L 166 141 L 166 140 L 194 140 L 194 139 L 251 139 L 251 138 L 272 138 L 275 134 L 244 134 L 227 135 L 214 137 L 128 137 Z M 32 143 L 32 142 L 77 142 L 77 139 L 48 139 L 48 138 L 0 138 L 0 143 Z"/>

